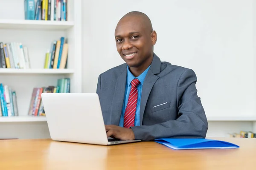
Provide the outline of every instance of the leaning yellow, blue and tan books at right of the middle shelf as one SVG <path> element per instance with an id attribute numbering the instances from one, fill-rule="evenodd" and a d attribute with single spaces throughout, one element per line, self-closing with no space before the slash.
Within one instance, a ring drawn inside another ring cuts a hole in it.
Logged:
<path id="1" fill-rule="evenodd" d="M 44 68 L 67 68 L 68 44 L 65 38 L 53 41 L 45 54 Z"/>

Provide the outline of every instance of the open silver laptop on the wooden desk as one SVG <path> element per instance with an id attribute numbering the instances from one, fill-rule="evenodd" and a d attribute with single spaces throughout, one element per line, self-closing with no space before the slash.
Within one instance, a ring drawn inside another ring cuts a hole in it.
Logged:
<path id="1" fill-rule="evenodd" d="M 140 141 L 107 137 L 96 93 L 43 93 L 41 98 L 52 140 L 101 145 Z"/>

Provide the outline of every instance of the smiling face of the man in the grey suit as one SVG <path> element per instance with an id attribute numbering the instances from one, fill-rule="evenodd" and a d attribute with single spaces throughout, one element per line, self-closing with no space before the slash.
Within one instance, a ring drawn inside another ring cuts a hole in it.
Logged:
<path id="1" fill-rule="evenodd" d="M 145 17 L 131 15 L 123 17 L 116 26 L 116 48 L 130 68 L 145 70 L 152 62 L 157 34 L 150 25 Z"/>

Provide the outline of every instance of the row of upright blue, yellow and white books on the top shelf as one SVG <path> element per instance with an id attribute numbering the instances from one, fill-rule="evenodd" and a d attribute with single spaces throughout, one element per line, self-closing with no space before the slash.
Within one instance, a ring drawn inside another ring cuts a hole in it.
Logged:
<path id="1" fill-rule="evenodd" d="M 25 20 L 67 21 L 67 0 L 24 0 Z"/>

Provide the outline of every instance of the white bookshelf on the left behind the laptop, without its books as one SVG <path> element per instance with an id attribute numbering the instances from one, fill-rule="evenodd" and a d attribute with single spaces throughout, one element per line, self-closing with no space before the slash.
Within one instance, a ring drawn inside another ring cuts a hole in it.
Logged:
<path id="1" fill-rule="evenodd" d="M 81 0 L 67 3 L 67 21 L 24 20 L 24 0 L 0 0 L 0 42 L 21 42 L 28 48 L 30 69 L 0 68 L 0 83 L 17 95 L 19 116 L 0 117 L 1 138 L 49 138 L 45 116 L 28 116 L 32 90 L 70 78 L 70 93 L 81 93 Z M 13 6 L 15 4 L 15 6 Z M 54 40 L 67 39 L 65 69 L 44 69 Z M 39 130 L 40 129 L 40 130 Z"/>

